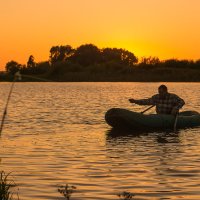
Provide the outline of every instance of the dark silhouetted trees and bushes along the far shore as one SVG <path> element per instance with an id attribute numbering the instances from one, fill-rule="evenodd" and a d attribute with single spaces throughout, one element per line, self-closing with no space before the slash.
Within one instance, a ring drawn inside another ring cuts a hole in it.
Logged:
<path id="1" fill-rule="evenodd" d="M 37 63 L 33 55 L 26 65 L 9 61 L 0 79 L 11 81 L 20 71 L 23 81 L 200 81 L 200 59 L 161 61 L 148 57 L 139 60 L 125 49 L 99 49 L 93 44 L 76 49 L 70 45 L 53 46 L 49 53 L 49 60 L 44 62 Z"/>

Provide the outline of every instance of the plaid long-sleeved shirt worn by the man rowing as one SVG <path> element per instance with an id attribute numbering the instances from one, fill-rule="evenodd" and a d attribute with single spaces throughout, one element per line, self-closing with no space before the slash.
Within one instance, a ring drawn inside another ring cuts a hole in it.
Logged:
<path id="1" fill-rule="evenodd" d="M 178 110 L 185 104 L 183 99 L 171 93 L 167 93 L 164 99 L 161 99 L 159 94 L 156 94 L 149 99 L 135 100 L 135 103 L 138 105 L 156 105 L 158 114 L 171 114 L 173 108 Z"/>

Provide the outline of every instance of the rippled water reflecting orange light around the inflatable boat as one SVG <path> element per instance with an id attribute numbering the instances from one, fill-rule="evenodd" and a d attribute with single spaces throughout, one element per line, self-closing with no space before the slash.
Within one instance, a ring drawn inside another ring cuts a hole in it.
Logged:
<path id="1" fill-rule="evenodd" d="M 200 83 L 166 83 L 200 111 Z M 129 98 L 150 97 L 160 83 L 16 83 L 0 137 L 0 170 L 12 172 L 20 200 L 200 199 L 200 128 L 177 134 L 113 134 L 112 107 L 142 111 Z M 0 110 L 11 83 L 0 83 Z M 153 112 L 154 109 L 149 112 Z"/>

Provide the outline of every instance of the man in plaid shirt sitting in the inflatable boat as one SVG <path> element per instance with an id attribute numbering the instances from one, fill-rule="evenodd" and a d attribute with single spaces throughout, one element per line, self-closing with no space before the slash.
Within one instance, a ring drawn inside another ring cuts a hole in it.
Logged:
<path id="1" fill-rule="evenodd" d="M 155 105 L 157 114 L 171 115 L 176 115 L 185 104 L 184 100 L 179 96 L 169 93 L 166 85 L 160 85 L 158 94 L 149 99 L 129 99 L 129 101 L 138 105 Z"/>

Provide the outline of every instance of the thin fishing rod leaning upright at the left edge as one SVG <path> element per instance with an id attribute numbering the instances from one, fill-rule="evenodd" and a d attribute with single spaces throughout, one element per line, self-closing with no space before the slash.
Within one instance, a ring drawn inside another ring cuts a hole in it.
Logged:
<path id="1" fill-rule="evenodd" d="M 19 71 L 16 72 L 15 75 L 14 75 L 14 79 L 13 79 L 13 82 L 11 84 L 10 91 L 9 91 L 9 94 L 8 94 L 8 97 L 7 97 L 6 105 L 5 105 L 3 116 L 2 116 L 2 120 L 1 120 L 0 135 L 2 133 L 4 121 L 5 121 L 5 118 L 6 118 L 7 109 L 8 109 L 8 103 L 9 103 L 9 100 L 10 100 L 10 97 L 11 97 L 11 94 L 12 94 L 12 91 L 13 91 L 13 88 L 14 88 L 14 84 L 15 84 L 15 82 L 17 80 L 21 80 L 21 74 L 20 74 Z"/>

